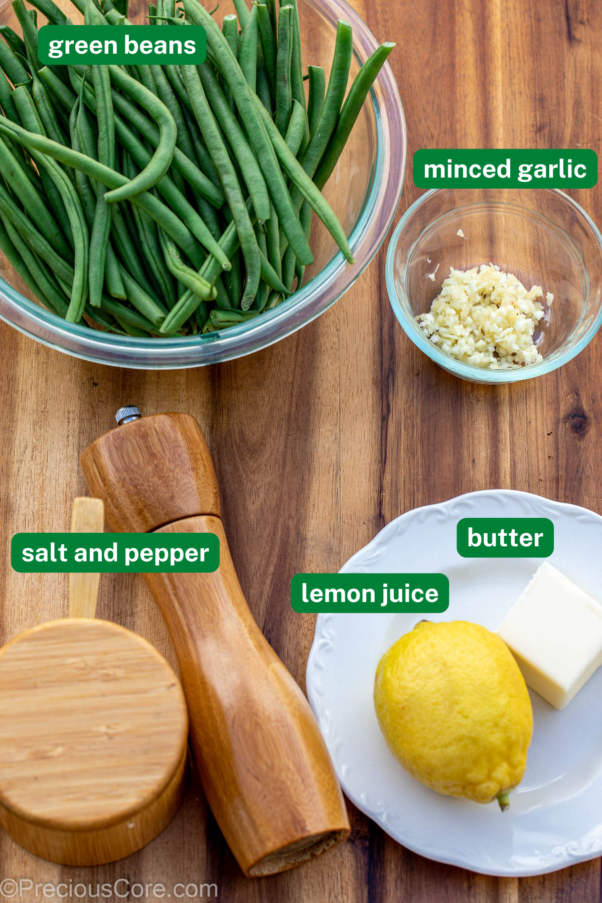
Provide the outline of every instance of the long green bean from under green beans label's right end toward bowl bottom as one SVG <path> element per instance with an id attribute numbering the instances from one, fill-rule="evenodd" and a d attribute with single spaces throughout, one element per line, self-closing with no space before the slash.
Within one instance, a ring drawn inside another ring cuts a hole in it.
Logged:
<path id="1" fill-rule="evenodd" d="M 221 35 L 221 32 L 219 34 Z M 236 223 L 236 231 L 240 239 L 240 247 L 245 258 L 246 267 L 243 301 L 245 299 L 253 301 L 260 279 L 259 248 L 257 247 L 255 232 L 245 207 L 245 200 L 236 178 L 234 166 L 219 134 L 218 124 L 211 112 L 211 107 L 209 107 L 205 90 L 200 81 L 199 71 L 195 66 L 182 66 L 182 75 L 203 139 L 219 172 L 222 188 Z"/>

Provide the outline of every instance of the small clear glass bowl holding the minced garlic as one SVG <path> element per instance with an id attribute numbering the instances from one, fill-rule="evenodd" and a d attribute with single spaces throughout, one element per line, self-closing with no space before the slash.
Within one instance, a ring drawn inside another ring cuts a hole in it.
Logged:
<path id="1" fill-rule="evenodd" d="M 489 263 L 517 276 L 527 289 L 541 285 L 542 302 L 553 294 L 534 334 L 541 363 L 511 370 L 466 364 L 433 345 L 418 325 L 416 315 L 431 310 L 450 266 L 466 270 Z M 403 330 L 449 373 L 489 384 L 533 379 L 574 358 L 600 328 L 602 236 L 562 191 L 427 191 L 394 230 L 386 286 Z"/>

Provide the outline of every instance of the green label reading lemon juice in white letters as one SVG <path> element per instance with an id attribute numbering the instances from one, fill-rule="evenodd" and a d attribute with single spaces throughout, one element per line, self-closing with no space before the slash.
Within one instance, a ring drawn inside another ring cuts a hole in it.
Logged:
<path id="1" fill-rule="evenodd" d="M 423 611 L 449 607 L 443 573 L 296 573 L 295 611 Z"/>

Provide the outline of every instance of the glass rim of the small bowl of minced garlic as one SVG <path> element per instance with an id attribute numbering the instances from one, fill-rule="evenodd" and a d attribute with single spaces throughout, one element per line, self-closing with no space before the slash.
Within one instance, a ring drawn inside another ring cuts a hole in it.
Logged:
<path id="1" fill-rule="evenodd" d="M 579 341 L 575 342 L 570 346 L 569 349 L 566 349 L 558 358 L 554 358 L 553 360 L 547 360 L 544 358 L 539 364 L 530 364 L 528 367 L 523 367 L 515 370 L 492 370 L 488 368 L 479 368 L 475 367 L 473 364 L 467 364 L 464 361 L 457 360 L 456 358 L 451 358 L 441 349 L 436 348 L 431 341 L 427 339 L 424 332 L 415 324 L 415 321 L 412 321 L 408 318 L 407 314 L 403 311 L 402 306 L 399 302 L 398 292 L 395 287 L 394 280 L 394 255 L 397 249 L 397 246 L 401 240 L 403 229 L 408 223 L 408 220 L 412 217 L 412 215 L 416 212 L 416 210 L 421 208 L 421 205 L 424 204 L 427 200 L 429 200 L 433 195 L 439 194 L 440 192 L 445 191 L 462 191 L 461 189 L 451 189 L 451 188 L 432 188 L 429 191 L 425 191 L 420 195 L 419 198 L 414 200 L 412 205 L 405 211 L 402 219 L 397 223 L 397 226 L 394 228 L 393 235 L 389 241 L 389 245 L 387 247 L 386 252 L 386 260 L 384 265 L 384 278 L 386 283 L 387 294 L 389 296 L 389 303 L 391 303 L 391 307 L 393 308 L 393 312 L 395 314 L 395 318 L 401 325 L 403 331 L 407 335 L 407 337 L 412 341 L 412 343 L 416 346 L 416 348 L 420 349 L 427 357 L 431 358 L 431 360 L 435 364 L 439 364 L 439 366 L 443 369 L 448 370 L 453 373 L 454 376 L 460 377 L 462 379 L 468 379 L 470 381 L 477 381 L 481 383 L 492 383 L 492 384 L 502 384 L 502 383 L 516 383 L 520 382 L 523 379 L 533 379 L 534 377 L 542 377 L 546 373 L 551 373 L 553 370 L 562 367 L 564 364 L 568 363 L 572 358 L 577 357 L 577 355 L 588 346 L 589 342 L 594 338 L 597 333 L 597 330 L 602 326 L 602 303 L 600 304 L 600 309 L 594 318 L 594 321 L 588 327 L 585 334 L 579 339 Z M 526 188 L 526 189 L 474 189 L 472 191 L 478 192 L 483 191 L 487 192 L 487 194 L 495 194 L 496 191 L 499 191 L 502 194 L 504 191 L 547 191 L 551 194 L 559 195 L 560 198 L 567 201 L 572 207 L 578 216 L 585 220 L 588 227 L 591 229 L 593 237 L 597 242 L 597 249 L 600 256 L 602 256 L 602 234 L 600 230 L 597 228 L 596 223 L 589 216 L 588 212 L 584 210 L 581 205 L 570 197 L 570 195 L 566 194 L 564 191 L 560 191 L 558 188 Z M 487 204 L 499 204 L 500 206 L 513 206 L 510 201 L 504 200 L 494 200 L 486 198 L 477 200 L 474 202 L 470 202 L 465 205 L 464 208 L 458 209 L 468 209 L 473 206 L 487 205 Z M 431 224 L 429 224 L 431 225 Z M 425 228 L 428 228 L 425 227 Z M 424 229 L 422 230 L 424 231 Z M 570 236 L 568 236 L 570 238 Z M 415 242 L 414 242 L 415 244 Z M 413 245 L 412 245 L 413 247 Z M 587 275 L 587 271 L 586 271 Z M 585 302 L 587 303 L 589 297 L 589 279 L 586 280 L 586 294 L 585 294 Z"/>

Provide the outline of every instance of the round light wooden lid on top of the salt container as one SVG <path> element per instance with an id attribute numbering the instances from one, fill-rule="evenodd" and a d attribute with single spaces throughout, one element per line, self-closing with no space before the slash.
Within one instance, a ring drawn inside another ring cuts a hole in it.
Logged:
<path id="1" fill-rule="evenodd" d="M 186 749 L 180 682 L 108 621 L 49 621 L 0 649 L 0 804 L 34 824 L 116 824 L 159 796 Z"/>

